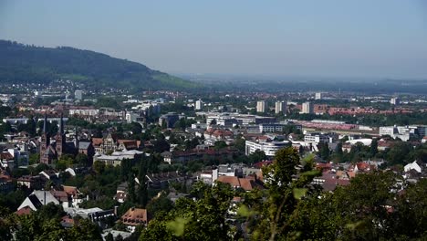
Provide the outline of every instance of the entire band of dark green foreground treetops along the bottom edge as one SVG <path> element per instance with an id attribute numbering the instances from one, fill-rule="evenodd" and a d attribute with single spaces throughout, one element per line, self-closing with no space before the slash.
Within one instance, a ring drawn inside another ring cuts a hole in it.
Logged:
<path id="1" fill-rule="evenodd" d="M 367 173 L 323 193 L 311 184 L 320 174 L 313 166 L 312 157 L 300 159 L 286 148 L 264 168 L 264 190 L 197 183 L 196 198 L 180 199 L 170 212 L 156 215 L 140 240 L 427 238 L 427 180 L 409 184 L 391 172 Z M 242 202 L 235 204 L 234 196 Z"/>

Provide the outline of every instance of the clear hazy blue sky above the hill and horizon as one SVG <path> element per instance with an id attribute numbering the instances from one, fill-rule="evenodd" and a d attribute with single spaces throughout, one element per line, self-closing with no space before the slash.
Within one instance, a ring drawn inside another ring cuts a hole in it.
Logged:
<path id="1" fill-rule="evenodd" d="M 169 73 L 427 79 L 424 0 L 3 0 L 0 39 Z"/>

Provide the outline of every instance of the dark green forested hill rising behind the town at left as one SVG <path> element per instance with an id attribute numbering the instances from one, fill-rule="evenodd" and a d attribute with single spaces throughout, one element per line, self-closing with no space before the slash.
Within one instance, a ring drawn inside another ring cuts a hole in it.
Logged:
<path id="1" fill-rule="evenodd" d="M 0 40 L 0 83 L 80 81 L 90 87 L 190 89 L 191 81 L 146 66 L 73 47 L 35 47 Z"/>

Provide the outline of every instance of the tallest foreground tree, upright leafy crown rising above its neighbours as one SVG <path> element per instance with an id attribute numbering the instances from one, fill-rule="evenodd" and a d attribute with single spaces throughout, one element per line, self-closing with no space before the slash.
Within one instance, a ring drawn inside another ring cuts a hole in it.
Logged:
<path id="1" fill-rule="evenodd" d="M 303 165 L 302 172 L 296 180 L 297 165 Z M 313 160 L 300 162 L 297 150 L 292 147 L 276 152 L 275 161 L 263 167 L 264 180 L 268 191 L 266 201 L 260 204 L 261 220 L 255 225 L 255 239 L 276 240 L 276 238 L 293 238 L 290 224 L 297 219 L 299 201 L 310 194 L 308 185 L 319 175 L 312 170 Z"/>

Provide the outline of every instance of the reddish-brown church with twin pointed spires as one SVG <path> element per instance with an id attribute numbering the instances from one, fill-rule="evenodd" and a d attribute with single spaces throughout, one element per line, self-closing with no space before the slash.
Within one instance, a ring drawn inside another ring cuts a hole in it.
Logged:
<path id="1" fill-rule="evenodd" d="M 62 113 L 57 135 L 51 137 L 49 133 L 47 133 L 47 114 L 45 113 L 43 133 L 40 143 L 40 163 L 52 164 L 54 160 L 59 159 L 63 154 L 76 155 L 78 153 L 88 155 L 89 162 L 91 163 L 93 161 L 93 155 L 95 154 L 95 149 L 93 148 L 91 141 L 78 141 L 77 130 L 74 140 L 67 141 L 66 134 L 64 132 L 64 120 Z"/>

